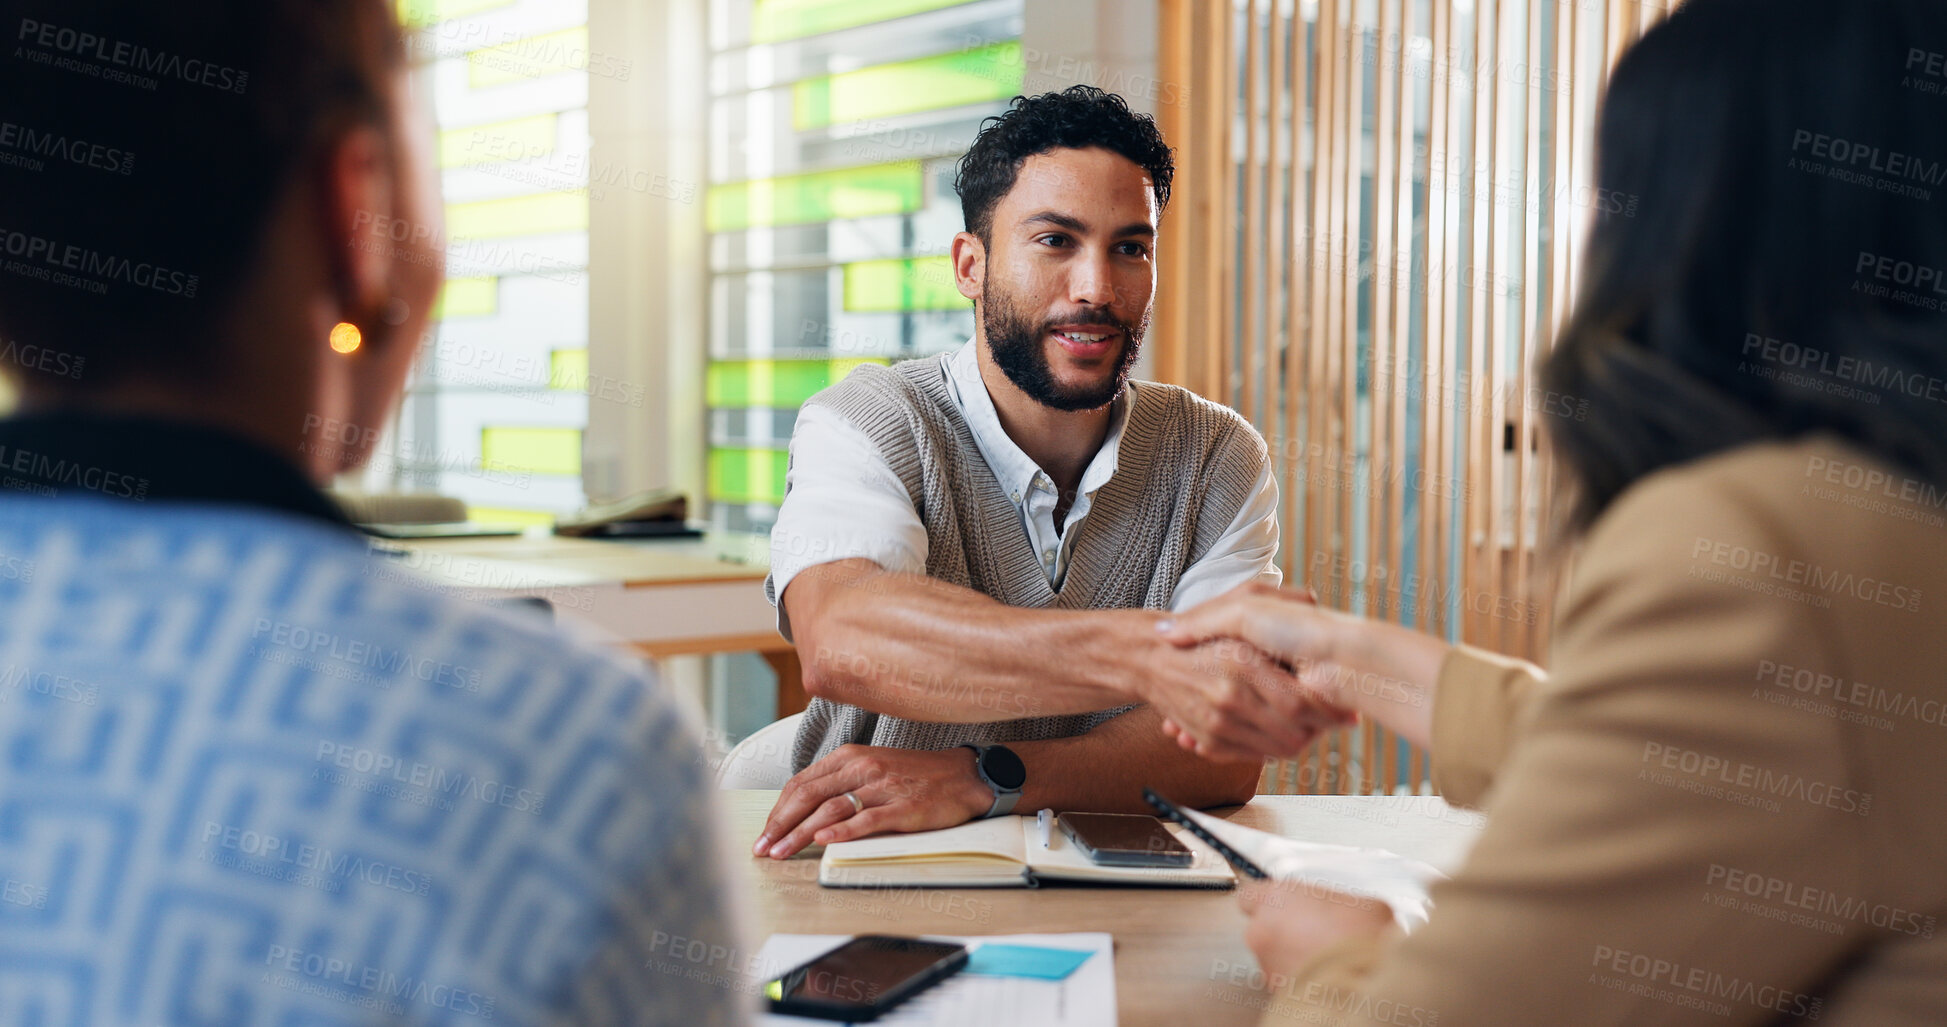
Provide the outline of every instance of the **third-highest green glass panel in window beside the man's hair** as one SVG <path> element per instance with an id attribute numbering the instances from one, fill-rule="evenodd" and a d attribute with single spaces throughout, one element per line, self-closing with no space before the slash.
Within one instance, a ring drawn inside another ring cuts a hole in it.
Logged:
<path id="1" fill-rule="evenodd" d="M 703 218 L 711 232 L 736 232 L 757 226 L 911 214 L 925 199 L 925 171 L 917 160 L 901 160 L 711 185 Z"/>

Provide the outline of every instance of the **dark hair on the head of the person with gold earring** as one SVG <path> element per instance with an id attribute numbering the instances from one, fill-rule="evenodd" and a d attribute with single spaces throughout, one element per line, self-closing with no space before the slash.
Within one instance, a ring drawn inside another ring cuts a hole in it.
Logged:
<path id="1" fill-rule="evenodd" d="M 384 0 L 0 0 L 0 339 L 78 361 L 72 388 L 220 359 L 278 191 L 384 121 L 403 64 Z"/>

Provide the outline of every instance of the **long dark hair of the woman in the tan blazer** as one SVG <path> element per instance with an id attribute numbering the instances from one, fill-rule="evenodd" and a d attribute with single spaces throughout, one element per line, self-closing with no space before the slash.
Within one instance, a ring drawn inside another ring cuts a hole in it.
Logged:
<path id="1" fill-rule="evenodd" d="M 1616 68 L 1544 388 L 1585 530 L 1635 479 L 1838 435 L 1947 483 L 1947 4 L 1690 0 Z M 1598 193 L 1600 195 L 1600 193 Z"/>

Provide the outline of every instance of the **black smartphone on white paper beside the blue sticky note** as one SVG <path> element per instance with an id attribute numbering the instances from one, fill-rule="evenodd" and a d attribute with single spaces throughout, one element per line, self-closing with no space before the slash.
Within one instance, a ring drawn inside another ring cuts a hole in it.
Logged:
<path id="1" fill-rule="evenodd" d="M 773 1013 L 878 1019 L 966 965 L 966 945 L 866 933 L 765 984 L 763 994 Z"/>

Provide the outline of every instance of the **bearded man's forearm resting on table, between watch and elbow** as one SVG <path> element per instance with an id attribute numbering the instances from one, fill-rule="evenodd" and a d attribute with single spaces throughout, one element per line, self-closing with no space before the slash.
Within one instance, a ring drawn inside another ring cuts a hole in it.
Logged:
<path id="1" fill-rule="evenodd" d="M 1145 787 L 1190 807 L 1248 803 L 1258 791 L 1264 764 L 1205 760 L 1166 739 L 1160 723 L 1141 705 L 1073 739 L 1007 742 L 1028 766 L 1014 813 L 1151 813 Z"/>

